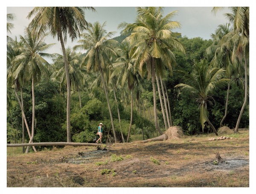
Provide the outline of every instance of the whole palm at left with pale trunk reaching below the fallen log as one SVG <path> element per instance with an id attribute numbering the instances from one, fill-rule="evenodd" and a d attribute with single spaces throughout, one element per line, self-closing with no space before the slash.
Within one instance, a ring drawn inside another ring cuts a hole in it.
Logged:
<path id="1" fill-rule="evenodd" d="M 42 76 L 48 76 L 45 64 L 49 64 L 42 56 L 52 57 L 51 54 L 43 53 L 54 44 L 46 44 L 44 39 L 48 34 L 41 34 L 38 31 L 25 29 L 25 36 L 20 36 L 20 40 L 24 46 L 21 49 L 20 55 L 16 56 L 17 63 L 13 68 L 13 76 L 15 80 L 23 76 L 29 79 L 32 84 L 32 129 L 31 138 L 29 143 L 33 142 L 35 133 L 35 94 L 34 84 L 39 82 Z M 16 82 L 17 83 L 17 82 Z M 29 146 L 26 149 L 26 153 L 29 151 Z"/>

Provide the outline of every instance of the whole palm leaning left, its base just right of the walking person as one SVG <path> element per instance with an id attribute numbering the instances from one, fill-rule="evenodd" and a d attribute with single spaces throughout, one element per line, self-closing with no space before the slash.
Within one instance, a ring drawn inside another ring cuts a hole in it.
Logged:
<path id="1" fill-rule="evenodd" d="M 108 89 L 104 79 L 103 71 L 106 70 L 108 64 L 111 64 L 110 57 L 112 55 L 116 55 L 113 45 L 118 44 L 118 42 L 116 40 L 109 39 L 110 37 L 112 37 L 113 32 L 107 32 L 104 28 L 105 25 L 105 22 L 102 25 L 99 22 L 95 22 L 94 24 L 89 23 L 86 30 L 87 32 L 81 34 L 82 39 L 78 41 L 78 43 L 81 44 L 74 46 L 74 49 L 88 49 L 87 55 L 84 57 L 82 63 L 87 63 L 87 70 L 93 70 L 94 72 L 100 73 L 108 102 L 108 110 L 111 117 L 113 135 L 116 142 L 116 132 L 114 129 L 113 116 L 108 99 Z"/>

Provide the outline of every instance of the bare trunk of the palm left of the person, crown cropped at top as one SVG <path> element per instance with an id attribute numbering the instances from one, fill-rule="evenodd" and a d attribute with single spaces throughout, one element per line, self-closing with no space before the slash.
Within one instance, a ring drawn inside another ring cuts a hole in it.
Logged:
<path id="1" fill-rule="evenodd" d="M 71 87 L 70 87 L 70 77 L 69 77 L 69 70 L 68 70 L 68 63 L 67 63 L 67 55 L 66 49 L 64 46 L 64 41 L 62 37 L 62 30 L 61 24 L 59 24 L 59 38 L 61 41 L 61 49 L 64 58 L 64 65 L 65 65 L 65 73 L 66 73 L 66 80 L 67 80 L 67 142 L 71 142 L 71 135 L 70 135 L 70 102 L 71 102 Z"/>

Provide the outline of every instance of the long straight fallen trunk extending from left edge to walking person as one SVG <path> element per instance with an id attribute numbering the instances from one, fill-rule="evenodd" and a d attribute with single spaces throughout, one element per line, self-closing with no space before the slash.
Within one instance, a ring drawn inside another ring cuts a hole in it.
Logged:
<path id="1" fill-rule="evenodd" d="M 74 143 L 74 142 L 40 142 L 40 143 L 7 143 L 7 147 L 22 146 L 100 146 L 98 143 Z"/>

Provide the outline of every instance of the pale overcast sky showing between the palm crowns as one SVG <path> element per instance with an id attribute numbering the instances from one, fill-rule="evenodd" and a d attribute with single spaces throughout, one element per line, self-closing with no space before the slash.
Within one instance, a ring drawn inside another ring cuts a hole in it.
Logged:
<path id="1" fill-rule="evenodd" d="M 12 34 L 8 35 L 12 38 L 20 35 L 24 36 L 24 28 L 29 24 L 30 20 L 26 17 L 29 11 L 33 7 L 7 7 L 7 13 L 15 15 L 15 19 L 12 21 L 14 28 Z M 88 22 L 99 21 L 101 24 L 106 22 L 107 31 L 116 31 L 114 37 L 120 35 L 121 29 L 117 26 L 121 22 L 133 23 L 137 16 L 136 7 L 94 7 L 96 12 L 86 10 L 85 18 Z M 177 11 L 177 14 L 172 18 L 173 21 L 178 21 L 181 24 L 181 28 L 177 28 L 173 31 L 180 32 L 182 36 L 188 38 L 201 37 L 203 39 L 210 39 L 211 34 L 220 24 L 225 24 L 227 19 L 224 17 L 224 13 L 228 13 L 229 9 L 224 8 L 216 15 L 212 12 L 212 7 L 164 7 L 164 16 L 172 11 Z M 48 53 L 61 53 L 61 44 L 57 40 L 49 37 L 45 40 L 46 43 L 56 43 L 50 48 Z M 71 48 L 77 44 L 77 40 L 71 42 L 67 41 L 66 47 Z"/>

